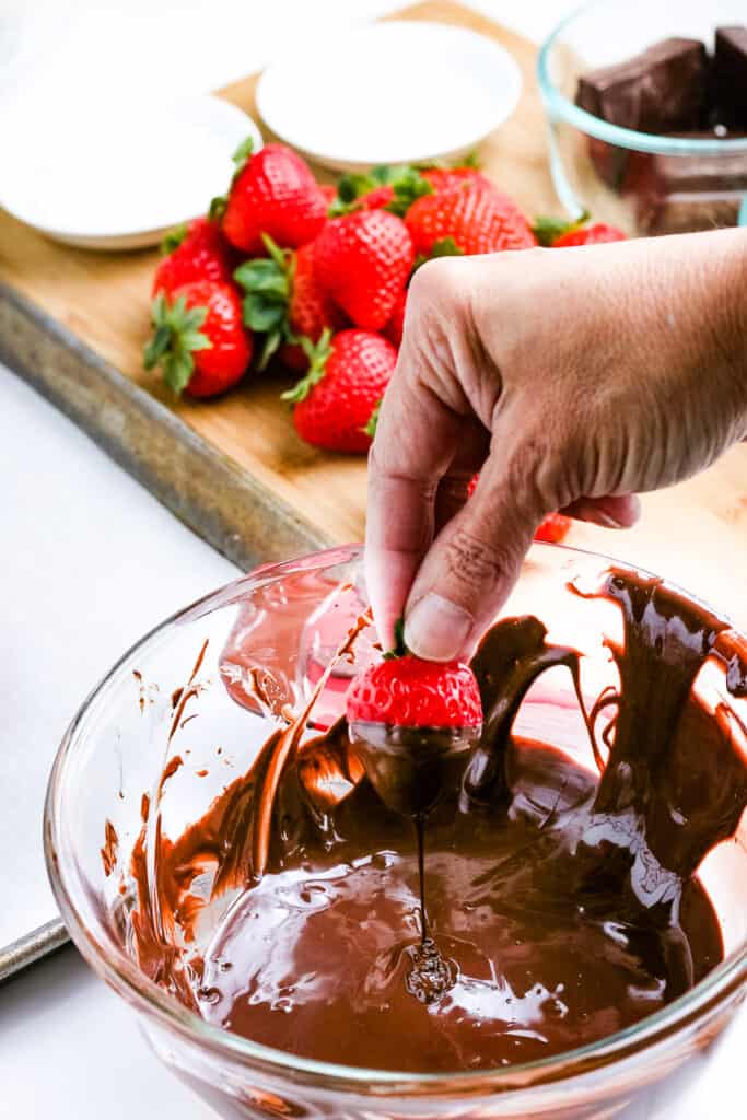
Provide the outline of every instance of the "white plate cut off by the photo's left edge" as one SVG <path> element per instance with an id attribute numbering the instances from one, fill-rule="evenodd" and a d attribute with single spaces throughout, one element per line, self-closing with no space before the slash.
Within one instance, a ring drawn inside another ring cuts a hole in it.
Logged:
<path id="1" fill-rule="evenodd" d="M 156 244 L 225 192 L 242 140 L 262 147 L 254 121 L 220 97 L 78 109 L 3 121 L 0 206 L 86 249 Z"/>

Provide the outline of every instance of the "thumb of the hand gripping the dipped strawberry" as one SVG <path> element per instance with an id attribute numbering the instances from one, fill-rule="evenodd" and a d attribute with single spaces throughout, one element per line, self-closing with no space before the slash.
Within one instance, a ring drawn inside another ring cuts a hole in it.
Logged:
<path id="1" fill-rule="evenodd" d="M 465 655 L 507 599 L 548 512 L 526 468 L 494 452 L 470 500 L 428 551 L 404 612 L 404 640 L 418 656 Z"/>

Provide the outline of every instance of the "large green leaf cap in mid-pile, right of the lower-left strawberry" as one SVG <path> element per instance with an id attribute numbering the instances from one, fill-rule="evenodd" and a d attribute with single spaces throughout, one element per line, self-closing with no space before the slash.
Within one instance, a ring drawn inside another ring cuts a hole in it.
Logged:
<path id="1" fill-rule="evenodd" d="M 242 305 L 245 326 L 265 336 L 259 370 L 265 368 L 281 343 L 295 340 L 288 325 L 288 312 L 296 258 L 290 250 L 280 249 L 265 233 L 262 241 L 270 255 L 245 261 L 233 274 L 246 292 Z"/>

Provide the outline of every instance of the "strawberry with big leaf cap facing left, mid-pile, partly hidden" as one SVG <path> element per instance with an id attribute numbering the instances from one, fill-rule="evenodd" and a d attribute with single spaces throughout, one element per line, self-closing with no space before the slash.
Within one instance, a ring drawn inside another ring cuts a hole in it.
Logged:
<path id="1" fill-rule="evenodd" d="M 258 368 L 263 370 L 282 346 L 281 357 L 295 370 L 306 370 L 308 358 L 299 337 L 319 340 L 325 327 L 343 326 L 343 314 L 317 282 L 314 242 L 300 249 L 280 249 L 262 235 L 269 256 L 246 261 L 234 278 L 244 288 L 244 323 L 264 335 Z"/>

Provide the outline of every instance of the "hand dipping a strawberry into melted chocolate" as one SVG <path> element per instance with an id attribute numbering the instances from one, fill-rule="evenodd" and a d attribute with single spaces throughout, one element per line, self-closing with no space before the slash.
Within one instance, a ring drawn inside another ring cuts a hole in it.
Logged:
<path id="1" fill-rule="evenodd" d="M 547 513 L 628 526 L 747 436 L 745 292 L 741 230 L 419 269 L 370 459 L 384 644 L 404 613 L 414 653 L 466 654 Z"/>

